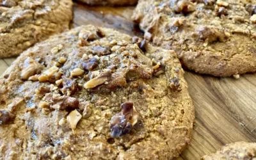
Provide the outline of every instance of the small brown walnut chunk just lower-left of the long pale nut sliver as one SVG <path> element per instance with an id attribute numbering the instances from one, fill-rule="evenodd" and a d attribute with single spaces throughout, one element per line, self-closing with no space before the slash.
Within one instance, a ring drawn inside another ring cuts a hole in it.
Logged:
<path id="1" fill-rule="evenodd" d="M 63 82 L 62 82 L 63 88 L 61 89 L 61 92 L 63 94 L 67 93 L 67 95 L 72 95 L 73 93 L 75 93 L 76 90 L 77 90 L 76 81 L 73 80 L 73 79 L 69 79 L 67 77 L 64 77 L 64 76 L 62 78 L 63 78 Z"/>

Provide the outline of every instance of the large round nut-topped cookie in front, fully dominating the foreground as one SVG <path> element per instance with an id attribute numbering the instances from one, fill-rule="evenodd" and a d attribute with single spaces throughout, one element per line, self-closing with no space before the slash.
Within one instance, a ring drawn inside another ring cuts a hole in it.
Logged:
<path id="1" fill-rule="evenodd" d="M 113 29 L 52 36 L 0 78 L 0 159 L 177 157 L 195 120 L 183 74 L 175 52 Z"/>

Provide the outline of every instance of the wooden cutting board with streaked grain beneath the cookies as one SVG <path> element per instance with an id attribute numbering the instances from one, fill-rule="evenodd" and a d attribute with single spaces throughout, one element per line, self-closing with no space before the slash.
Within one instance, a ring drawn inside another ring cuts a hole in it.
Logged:
<path id="1" fill-rule="evenodd" d="M 134 7 L 104 8 L 74 4 L 72 27 L 93 24 L 142 36 L 131 20 Z M 15 58 L 0 59 L 0 75 Z M 212 77 L 186 71 L 189 93 L 196 111 L 190 146 L 177 159 L 200 159 L 221 145 L 235 141 L 256 142 L 256 76 Z"/>

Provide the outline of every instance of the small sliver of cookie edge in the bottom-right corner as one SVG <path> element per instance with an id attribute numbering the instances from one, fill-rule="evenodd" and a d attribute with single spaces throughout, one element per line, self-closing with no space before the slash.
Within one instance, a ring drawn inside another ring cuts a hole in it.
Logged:
<path id="1" fill-rule="evenodd" d="M 204 156 L 202 160 L 213 159 L 237 159 L 237 160 L 252 160 L 256 159 L 256 143 L 236 142 L 230 143 L 220 148 L 215 154 Z"/>

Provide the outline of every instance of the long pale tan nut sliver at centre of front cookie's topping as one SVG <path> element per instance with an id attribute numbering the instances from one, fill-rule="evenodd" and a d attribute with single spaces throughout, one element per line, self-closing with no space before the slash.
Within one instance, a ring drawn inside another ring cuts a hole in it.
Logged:
<path id="1" fill-rule="evenodd" d="M 99 86 L 100 84 L 105 83 L 109 79 L 111 79 L 111 72 L 108 70 L 106 72 L 102 72 L 99 76 L 85 83 L 84 88 L 94 88 L 95 86 Z"/>

